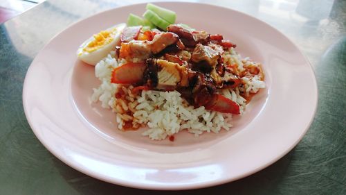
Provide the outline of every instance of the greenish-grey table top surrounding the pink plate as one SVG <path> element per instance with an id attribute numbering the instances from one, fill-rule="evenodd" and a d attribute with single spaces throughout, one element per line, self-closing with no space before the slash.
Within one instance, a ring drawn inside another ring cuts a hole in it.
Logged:
<path id="1" fill-rule="evenodd" d="M 318 109 L 307 135 L 270 167 L 233 183 L 167 193 L 346 194 L 346 1 L 199 2 L 262 19 L 295 42 L 316 73 Z M 0 194 L 162 193 L 105 183 L 67 166 L 35 137 L 22 105 L 26 71 L 44 44 L 78 19 L 129 3 L 48 0 L 0 25 Z"/>

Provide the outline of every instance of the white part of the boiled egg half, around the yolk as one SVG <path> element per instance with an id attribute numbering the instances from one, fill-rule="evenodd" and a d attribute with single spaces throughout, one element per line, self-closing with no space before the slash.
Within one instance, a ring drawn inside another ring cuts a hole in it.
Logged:
<path id="1" fill-rule="evenodd" d="M 107 55 L 114 50 L 117 45 L 120 44 L 120 34 L 125 27 L 126 24 L 122 23 L 111 28 L 107 28 L 106 31 L 111 32 L 110 36 L 113 37 L 113 40 L 111 40 L 109 43 L 103 44 L 99 49 L 94 51 L 84 51 L 84 48 L 86 48 L 90 42 L 93 42 L 95 38 L 92 36 L 88 40 L 84 41 L 77 50 L 78 59 L 86 62 L 89 65 L 95 66 L 98 62 L 100 62 L 100 60 L 107 57 Z"/>

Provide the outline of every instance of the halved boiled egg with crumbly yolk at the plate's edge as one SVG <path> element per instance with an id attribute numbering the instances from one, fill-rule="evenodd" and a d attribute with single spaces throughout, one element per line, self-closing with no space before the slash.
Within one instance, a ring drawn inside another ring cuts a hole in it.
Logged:
<path id="1" fill-rule="evenodd" d="M 84 41 L 77 50 L 78 59 L 95 66 L 120 44 L 120 34 L 125 27 L 126 24 L 118 24 Z"/>

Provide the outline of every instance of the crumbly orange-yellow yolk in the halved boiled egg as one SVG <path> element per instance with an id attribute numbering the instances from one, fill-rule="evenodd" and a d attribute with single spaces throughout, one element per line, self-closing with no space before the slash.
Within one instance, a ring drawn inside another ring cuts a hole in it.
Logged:
<path id="1" fill-rule="evenodd" d="M 97 35 L 93 35 L 93 41 L 89 42 L 89 44 L 84 47 L 83 51 L 90 53 L 100 49 L 105 44 L 109 44 L 113 40 L 111 33 L 112 32 L 109 31 L 101 31 Z"/>

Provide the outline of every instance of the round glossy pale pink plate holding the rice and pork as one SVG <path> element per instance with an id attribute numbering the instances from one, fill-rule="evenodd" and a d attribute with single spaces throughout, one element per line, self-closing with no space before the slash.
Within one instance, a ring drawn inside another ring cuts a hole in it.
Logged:
<path id="1" fill-rule="evenodd" d="M 94 68 L 76 59 L 94 33 L 141 15 L 145 4 L 83 19 L 53 38 L 36 56 L 24 82 L 26 117 L 39 140 L 69 166 L 100 180 L 145 189 L 192 189 L 227 183 L 282 158 L 306 133 L 316 111 L 316 78 L 298 48 L 275 28 L 235 10 L 201 3 L 157 3 L 178 23 L 221 33 L 242 56 L 262 62 L 266 90 L 235 117 L 233 130 L 174 142 L 152 141 L 116 128 L 114 114 L 89 103 L 99 85 Z M 208 17 L 192 17 L 208 13 Z M 215 13 L 215 14 L 213 14 Z M 256 30 L 257 29 L 257 30 Z M 260 29 L 260 30 L 258 30 Z"/>

